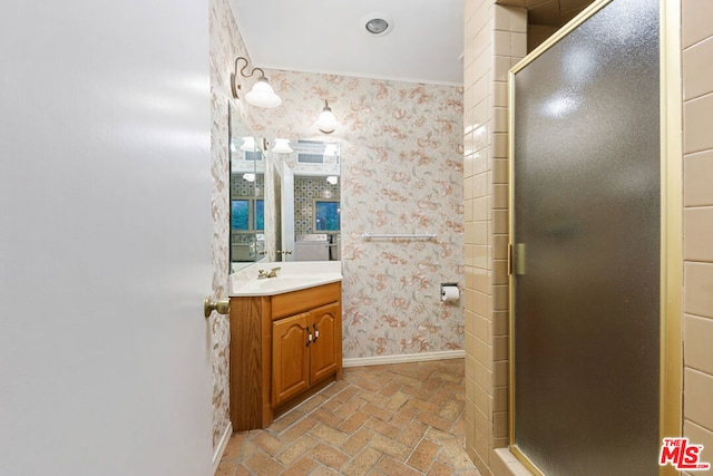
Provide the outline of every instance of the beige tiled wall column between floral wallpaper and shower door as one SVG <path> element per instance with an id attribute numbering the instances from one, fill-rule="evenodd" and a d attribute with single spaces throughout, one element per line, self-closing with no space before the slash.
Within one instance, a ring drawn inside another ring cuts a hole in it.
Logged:
<path id="1" fill-rule="evenodd" d="M 465 2 L 466 450 L 490 474 L 507 445 L 507 74 L 526 55 L 525 9 Z"/>

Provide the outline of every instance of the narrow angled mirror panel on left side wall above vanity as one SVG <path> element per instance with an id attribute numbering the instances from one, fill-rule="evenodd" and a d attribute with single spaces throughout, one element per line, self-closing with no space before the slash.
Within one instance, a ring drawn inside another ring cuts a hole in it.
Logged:
<path id="1" fill-rule="evenodd" d="M 231 154 L 231 272 L 261 259 L 265 250 L 262 140 L 250 136 L 228 106 Z"/>

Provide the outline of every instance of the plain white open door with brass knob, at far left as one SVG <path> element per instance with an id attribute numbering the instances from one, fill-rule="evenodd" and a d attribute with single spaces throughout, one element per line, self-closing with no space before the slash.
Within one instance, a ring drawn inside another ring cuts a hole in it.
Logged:
<path id="1" fill-rule="evenodd" d="M 4 2 L 0 474 L 208 475 L 208 1 Z"/>

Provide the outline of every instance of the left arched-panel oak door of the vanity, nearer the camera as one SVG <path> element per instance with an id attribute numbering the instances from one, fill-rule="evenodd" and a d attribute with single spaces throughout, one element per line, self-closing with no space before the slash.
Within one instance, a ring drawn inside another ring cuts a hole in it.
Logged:
<path id="1" fill-rule="evenodd" d="M 303 312 L 272 324 L 272 405 L 310 387 L 310 314 Z"/>

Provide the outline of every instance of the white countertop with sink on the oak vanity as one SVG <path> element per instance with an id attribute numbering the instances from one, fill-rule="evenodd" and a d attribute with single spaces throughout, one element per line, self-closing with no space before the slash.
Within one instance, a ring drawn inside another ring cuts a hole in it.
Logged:
<path id="1" fill-rule="evenodd" d="M 257 279 L 257 270 L 280 268 L 277 278 Z M 274 295 L 342 281 L 340 261 L 255 263 L 229 276 L 229 297 Z"/>

